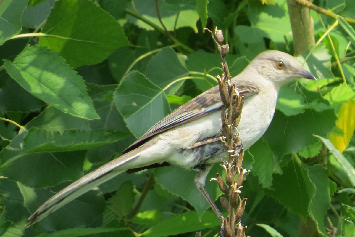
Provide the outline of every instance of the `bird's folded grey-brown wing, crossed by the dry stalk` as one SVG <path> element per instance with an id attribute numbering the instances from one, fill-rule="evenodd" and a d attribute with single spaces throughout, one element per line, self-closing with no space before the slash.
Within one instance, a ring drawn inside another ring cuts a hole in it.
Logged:
<path id="1" fill-rule="evenodd" d="M 255 83 L 244 80 L 234 80 L 233 82 L 237 87 L 240 96 L 244 96 L 245 98 L 259 92 L 259 87 Z M 163 131 L 187 123 L 191 120 L 198 119 L 220 109 L 221 107 L 222 101 L 219 95 L 219 88 L 218 86 L 215 86 L 168 114 L 122 153 L 129 152 L 138 146 L 141 146 L 148 139 Z"/>

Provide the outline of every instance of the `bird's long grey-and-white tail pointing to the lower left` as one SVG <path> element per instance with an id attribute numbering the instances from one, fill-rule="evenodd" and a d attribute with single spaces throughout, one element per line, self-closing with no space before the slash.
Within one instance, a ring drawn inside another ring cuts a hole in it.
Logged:
<path id="1" fill-rule="evenodd" d="M 40 206 L 29 218 L 26 223 L 26 227 L 33 225 L 34 223 L 42 220 L 55 210 L 61 208 L 65 204 L 69 203 L 78 196 L 88 192 L 89 190 L 97 187 L 105 181 L 117 176 L 124 172 L 127 168 L 121 167 L 125 163 L 137 158 L 141 155 L 142 147 L 139 147 L 125 155 L 122 155 L 115 160 L 95 169 L 91 173 L 82 177 L 78 181 L 70 184 L 68 187 L 55 194 L 48 199 L 42 206 Z"/>

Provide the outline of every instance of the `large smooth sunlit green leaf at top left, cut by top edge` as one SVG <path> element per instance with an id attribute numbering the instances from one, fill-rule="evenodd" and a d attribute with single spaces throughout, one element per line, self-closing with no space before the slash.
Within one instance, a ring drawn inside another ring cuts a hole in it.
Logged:
<path id="1" fill-rule="evenodd" d="M 130 45 L 115 18 L 87 0 L 56 1 L 42 33 L 48 36 L 41 36 L 40 44 L 59 52 L 73 68 L 99 63 Z"/>

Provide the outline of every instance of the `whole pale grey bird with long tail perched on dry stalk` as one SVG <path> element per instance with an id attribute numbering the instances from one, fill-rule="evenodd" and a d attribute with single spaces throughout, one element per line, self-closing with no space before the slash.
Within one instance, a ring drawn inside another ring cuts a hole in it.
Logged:
<path id="1" fill-rule="evenodd" d="M 271 123 L 280 88 L 301 77 L 317 81 L 290 54 L 267 50 L 258 54 L 239 75 L 232 78 L 239 95 L 244 97 L 237 131 L 245 150 L 261 138 Z M 226 154 L 219 139 L 222 105 L 218 86 L 183 104 L 149 129 L 123 155 L 86 174 L 47 200 L 28 218 L 26 226 L 39 222 L 122 172 L 167 164 L 197 170 L 197 188 L 211 206 L 215 205 L 204 184 L 212 165 L 220 162 Z"/>

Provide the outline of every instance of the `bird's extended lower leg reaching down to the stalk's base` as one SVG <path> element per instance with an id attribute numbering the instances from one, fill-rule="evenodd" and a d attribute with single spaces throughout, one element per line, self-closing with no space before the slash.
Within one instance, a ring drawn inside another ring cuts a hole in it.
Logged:
<path id="1" fill-rule="evenodd" d="M 223 231 L 224 230 L 224 221 L 223 221 L 222 212 L 220 212 L 220 210 L 217 208 L 216 204 L 212 200 L 211 196 L 209 196 L 209 194 L 207 193 L 207 190 L 204 188 L 204 184 L 206 183 L 207 174 L 211 170 L 212 166 L 213 165 L 211 165 L 211 164 L 203 166 L 203 169 L 200 169 L 198 171 L 198 173 L 195 176 L 195 184 L 196 184 L 198 190 L 200 190 L 200 192 L 204 196 L 204 198 L 206 198 L 208 204 L 211 206 L 212 210 L 214 211 L 214 213 L 217 215 L 218 219 L 222 223 L 221 230 L 220 230 L 220 236 L 224 237 L 225 236 L 224 231 Z"/>

